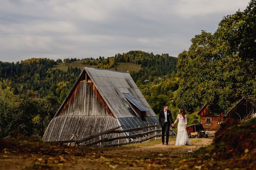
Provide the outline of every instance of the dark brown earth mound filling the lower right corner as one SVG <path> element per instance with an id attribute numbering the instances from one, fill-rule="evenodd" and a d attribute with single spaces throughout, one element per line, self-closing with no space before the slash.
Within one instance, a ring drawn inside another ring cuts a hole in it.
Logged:
<path id="1" fill-rule="evenodd" d="M 190 168 L 254 169 L 256 161 L 256 118 L 243 123 L 227 119 L 216 132 L 212 145 L 183 157 Z"/>

